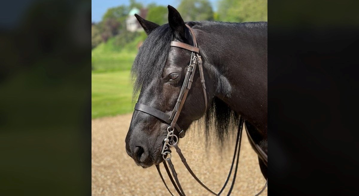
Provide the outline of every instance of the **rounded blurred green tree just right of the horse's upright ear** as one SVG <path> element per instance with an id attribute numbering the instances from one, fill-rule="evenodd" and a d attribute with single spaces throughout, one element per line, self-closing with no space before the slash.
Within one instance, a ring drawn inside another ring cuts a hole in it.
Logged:
<path id="1" fill-rule="evenodd" d="M 177 10 L 185 22 L 213 20 L 213 9 L 208 0 L 182 0 Z"/>

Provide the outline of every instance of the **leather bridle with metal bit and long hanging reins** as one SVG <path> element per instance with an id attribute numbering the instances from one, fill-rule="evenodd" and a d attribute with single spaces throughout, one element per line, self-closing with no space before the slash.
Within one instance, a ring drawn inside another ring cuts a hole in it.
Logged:
<path id="1" fill-rule="evenodd" d="M 170 178 L 174 188 L 176 189 L 176 191 L 178 192 L 178 194 L 180 196 L 186 196 L 186 195 L 185 195 L 185 192 L 182 190 L 180 181 L 178 180 L 178 177 L 177 177 L 176 170 L 174 170 L 174 166 L 173 166 L 173 163 L 171 161 L 172 154 L 169 151 L 170 147 L 173 146 L 174 148 L 176 148 L 176 151 L 177 151 L 178 155 L 180 156 L 181 161 L 183 162 L 183 164 L 187 168 L 188 172 L 190 172 L 191 175 L 195 178 L 195 180 L 201 186 L 203 186 L 206 190 L 208 190 L 209 192 L 211 192 L 213 195 L 216 195 L 216 196 L 219 196 L 220 193 L 222 193 L 222 191 L 224 190 L 225 186 L 227 185 L 228 180 L 230 178 L 230 175 L 232 173 L 234 160 L 235 160 L 236 155 L 237 155 L 237 162 L 236 162 L 236 168 L 235 168 L 235 171 L 234 171 L 232 185 L 231 185 L 230 190 L 229 190 L 229 192 L 227 194 L 227 196 L 229 196 L 230 193 L 232 192 L 233 185 L 234 185 L 234 182 L 236 180 L 236 175 L 237 175 L 238 160 L 239 160 L 239 150 L 241 148 L 241 139 L 242 139 L 241 135 L 242 135 L 242 128 L 243 128 L 243 118 L 242 117 L 240 117 L 240 119 L 239 119 L 239 128 L 238 128 L 238 133 L 237 133 L 236 147 L 235 147 L 235 150 L 234 150 L 232 165 L 230 167 L 230 171 L 229 171 L 227 180 L 225 181 L 222 189 L 220 190 L 220 192 L 218 194 L 213 192 L 212 190 L 210 190 L 208 187 L 206 187 L 197 178 L 197 176 L 194 174 L 194 172 L 191 170 L 190 166 L 186 162 L 186 158 L 183 156 L 183 154 L 181 152 L 181 149 L 177 145 L 178 137 L 180 137 L 180 138 L 185 137 L 185 132 L 183 131 L 183 129 L 180 128 L 180 126 L 176 122 L 178 120 L 178 117 L 180 116 L 183 104 L 186 101 L 188 91 L 191 89 L 191 85 L 192 85 L 192 82 L 193 82 L 193 78 L 194 78 L 194 74 L 195 74 L 197 65 L 198 65 L 199 70 L 200 70 L 200 77 L 201 77 L 203 95 L 204 95 L 204 100 L 205 100 L 205 111 L 204 112 L 207 111 L 207 107 L 208 107 L 207 95 L 206 95 L 206 85 L 205 85 L 205 79 L 204 79 L 203 67 L 202 67 L 202 59 L 201 59 L 201 56 L 199 55 L 199 48 L 197 47 L 196 36 L 195 36 L 192 28 L 190 26 L 188 26 L 187 24 L 186 24 L 186 26 L 191 31 L 192 40 L 193 40 L 193 46 L 189 45 L 189 44 L 186 44 L 186 43 L 179 42 L 179 41 L 171 41 L 171 45 L 170 45 L 170 46 L 173 46 L 173 47 L 182 48 L 182 49 L 189 50 L 189 51 L 192 52 L 192 54 L 191 54 L 191 62 L 190 62 L 190 65 L 188 65 L 188 67 L 187 67 L 186 77 L 185 77 L 184 83 L 182 85 L 180 95 L 178 95 L 176 105 L 174 106 L 173 111 L 171 112 L 171 115 L 168 115 L 168 114 L 166 114 L 166 113 L 164 113 L 162 111 L 159 111 L 158 109 L 146 106 L 146 105 L 141 104 L 141 103 L 136 103 L 135 110 L 150 114 L 151 116 L 154 116 L 154 117 L 166 122 L 167 124 L 170 124 L 170 126 L 167 128 L 167 136 L 166 136 L 166 138 L 164 138 L 164 144 L 163 144 L 161 154 L 162 154 L 163 159 L 168 163 L 168 166 L 167 166 L 167 164 L 165 162 L 163 162 L 163 165 L 164 165 L 165 170 L 167 171 L 168 177 Z M 238 145 L 238 143 L 239 143 L 239 145 Z M 237 151 L 237 149 L 238 149 L 238 151 Z M 168 155 L 169 155 L 169 157 L 167 158 Z M 166 182 L 163 179 L 163 176 L 161 174 L 159 165 L 156 165 L 156 168 L 158 170 L 158 173 L 159 173 L 165 187 L 167 188 L 169 193 L 171 193 L 171 195 L 173 196 L 172 192 L 169 190 Z M 169 170 L 171 170 L 173 177 L 172 177 L 171 172 Z M 173 180 L 173 178 L 174 178 L 174 180 Z M 260 195 L 265 190 L 267 185 L 268 185 L 268 179 L 266 180 L 265 186 L 262 188 L 262 190 L 260 192 L 258 192 L 256 194 L 256 196 Z"/>

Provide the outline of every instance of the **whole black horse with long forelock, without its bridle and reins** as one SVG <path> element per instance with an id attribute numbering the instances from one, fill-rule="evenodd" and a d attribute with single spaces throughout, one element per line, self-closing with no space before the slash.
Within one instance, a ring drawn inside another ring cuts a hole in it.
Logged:
<path id="1" fill-rule="evenodd" d="M 187 130 L 203 117 L 206 130 L 214 128 L 223 141 L 230 125 L 238 126 L 241 116 L 254 142 L 267 154 L 267 22 L 184 23 L 176 9 L 168 6 L 168 11 L 168 24 L 162 26 L 135 15 L 148 34 L 131 70 L 138 103 L 172 112 L 191 52 L 170 47 L 170 43 L 192 45 L 187 24 L 194 30 L 203 59 L 209 108 L 205 111 L 200 75 L 196 73 L 178 124 Z M 167 127 L 149 114 L 134 111 L 126 151 L 137 165 L 145 168 L 163 161 L 161 150 Z M 267 164 L 261 158 L 259 163 L 267 179 Z"/>

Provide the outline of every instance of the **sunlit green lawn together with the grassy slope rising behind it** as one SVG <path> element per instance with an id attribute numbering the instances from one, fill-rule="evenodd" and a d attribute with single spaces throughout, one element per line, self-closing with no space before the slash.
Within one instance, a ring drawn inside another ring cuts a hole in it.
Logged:
<path id="1" fill-rule="evenodd" d="M 92 118 L 133 111 L 130 69 L 142 39 L 139 36 L 120 47 L 115 38 L 110 38 L 92 50 Z"/>

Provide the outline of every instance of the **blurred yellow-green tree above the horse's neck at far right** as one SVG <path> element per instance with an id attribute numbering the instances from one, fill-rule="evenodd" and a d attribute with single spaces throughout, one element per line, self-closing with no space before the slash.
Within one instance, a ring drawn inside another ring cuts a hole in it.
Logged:
<path id="1" fill-rule="evenodd" d="M 218 20 L 227 22 L 268 21 L 267 0 L 220 0 Z"/>

